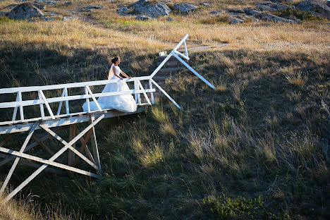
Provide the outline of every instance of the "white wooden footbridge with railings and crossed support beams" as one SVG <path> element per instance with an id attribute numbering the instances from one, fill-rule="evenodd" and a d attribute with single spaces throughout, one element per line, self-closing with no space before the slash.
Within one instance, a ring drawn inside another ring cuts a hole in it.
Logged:
<path id="1" fill-rule="evenodd" d="M 20 183 L 18 187 L 9 192 L 6 201 L 10 200 L 11 197 L 16 195 L 22 188 L 30 183 L 33 178 L 35 178 L 39 173 L 45 169 L 48 171 L 53 171 L 59 173 L 61 171 L 57 169 L 49 168 L 49 165 L 56 168 L 64 169 L 66 171 L 72 171 L 75 173 L 81 173 L 86 176 L 91 176 L 94 178 L 99 178 L 102 175 L 102 166 L 101 161 L 99 160 L 99 150 L 97 147 L 97 138 L 95 135 L 94 126 L 99 123 L 104 118 L 112 118 L 118 116 L 125 116 L 128 114 L 137 114 L 143 110 L 143 106 L 154 104 L 154 92 L 157 92 L 158 89 L 162 92 L 167 98 L 173 102 L 179 109 L 179 106 L 170 96 L 167 94 L 157 82 L 154 81 L 153 77 L 158 73 L 158 71 L 163 67 L 171 56 L 174 56 L 178 61 L 183 63 L 184 66 L 190 69 L 197 77 L 203 80 L 209 87 L 214 89 L 214 86 L 205 80 L 200 74 L 198 74 L 193 68 L 191 68 L 183 59 L 189 60 L 188 49 L 185 43 L 185 39 L 188 38 L 188 35 L 185 35 L 181 42 L 171 51 L 171 53 L 166 56 L 166 59 L 162 61 L 159 66 L 154 70 L 151 75 L 143 77 L 135 77 L 131 79 L 125 79 L 124 81 L 133 82 L 133 90 L 122 91 L 122 92 L 106 92 L 106 93 L 93 93 L 91 87 L 104 86 L 107 83 L 118 82 L 119 80 L 99 80 L 92 82 L 76 82 L 68 83 L 61 85 L 45 85 L 45 86 L 31 86 L 31 87 L 12 87 L 0 89 L 0 96 L 10 96 L 12 94 L 16 95 L 16 101 L 11 102 L 0 102 L 0 109 L 6 111 L 7 114 L 11 114 L 11 120 L 1 121 L 0 122 L 0 135 L 6 135 L 4 140 L 0 143 L 0 167 L 4 169 L 4 164 L 7 164 L 10 161 L 13 161 L 11 169 L 8 171 L 8 175 L 4 180 L 4 183 L 1 186 L 0 194 L 6 189 L 13 171 L 15 171 L 18 162 L 26 164 L 28 166 L 36 167 L 37 170 L 32 173 L 28 178 Z M 178 48 L 184 46 L 184 54 L 178 51 Z M 147 83 L 141 83 L 141 81 L 147 81 Z M 142 85 L 148 85 L 148 87 L 143 87 Z M 82 89 L 83 88 L 83 89 Z M 69 94 L 71 91 L 80 91 L 77 94 Z M 83 91 L 83 92 L 81 92 Z M 59 93 L 60 92 L 60 93 Z M 23 96 L 24 94 L 30 94 L 30 96 Z M 81 94 L 83 93 L 83 94 Z M 32 95 L 34 94 L 34 95 Z M 51 97 L 47 97 L 51 96 Z M 61 96 L 56 95 L 61 94 Z M 111 109 L 102 109 L 97 103 L 97 97 L 119 95 L 119 94 L 134 94 L 135 102 L 138 105 L 138 110 L 133 113 L 124 113 Z M 23 100 L 23 97 L 37 97 L 34 99 Z M 142 97 L 145 102 L 142 102 Z M 79 111 L 73 108 L 73 101 L 80 100 L 87 102 L 87 111 Z M 92 99 L 97 105 L 97 111 L 91 111 L 90 109 L 90 99 Z M 24 109 L 27 107 L 35 107 L 35 111 L 39 114 L 39 117 L 27 118 L 27 114 L 24 114 Z M 56 108 L 56 111 L 54 109 Z M 19 112 L 19 116 L 17 115 Z M 17 119 L 18 118 L 18 119 Z M 83 130 L 78 130 L 78 123 L 89 123 L 87 127 Z M 51 129 L 53 128 L 53 130 Z M 63 128 L 69 128 L 69 141 L 67 142 L 59 135 L 59 132 Z M 37 138 L 35 135 L 36 130 L 43 130 L 47 133 L 43 138 Z M 14 133 L 25 133 L 27 132 L 27 137 L 23 142 L 23 145 L 20 147 L 19 151 L 13 150 L 18 149 L 18 146 L 13 146 L 13 149 L 8 149 L 3 147 L 5 143 L 10 140 Z M 85 135 L 85 138 L 83 138 Z M 33 138 L 35 142 L 32 142 L 30 145 L 29 142 Z M 55 138 L 63 147 L 59 149 L 58 152 L 53 152 L 45 141 L 49 138 Z M 80 149 L 75 148 L 76 142 L 80 140 L 81 147 Z M 92 152 L 87 147 L 87 141 L 91 140 Z M 51 154 L 49 159 L 44 159 L 42 157 L 37 157 L 32 154 L 28 154 L 27 151 L 37 147 L 39 145 L 43 150 Z M 59 157 L 68 150 L 68 164 L 61 163 Z M 85 152 L 85 155 L 83 154 Z M 90 171 L 85 171 L 78 169 L 75 166 L 78 163 L 78 159 L 82 159 L 87 164 L 92 166 L 95 169 L 95 173 Z M 34 162 L 41 163 L 35 164 Z"/>

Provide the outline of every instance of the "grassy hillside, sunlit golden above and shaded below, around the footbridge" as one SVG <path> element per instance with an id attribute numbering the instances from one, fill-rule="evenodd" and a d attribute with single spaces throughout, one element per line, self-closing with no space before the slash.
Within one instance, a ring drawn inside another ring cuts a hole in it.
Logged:
<path id="1" fill-rule="evenodd" d="M 97 125 L 102 179 L 42 173 L 16 197 L 27 204 L 0 202 L 0 219 L 329 219 L 327 21 L 205 24 L 209 11 L 255 2 L 228 0 L 173 13 L 171 23 L 141 22 L 116 14 L 133 1 L 72 2 L 47 6 L 59 13 L 51 22 L 0 19 L 0 87 L 101 80 L 114 54 L 123 71 L 149 75 L 157 53 L 188 33 L 188 48 L 226 43 L 190 53 L 190 66 L 216 90 L 180 71 L 164 87 L 182 111 L 162 99 L 144 114 Z M 106 8 L 60 19 L 91 4 Z M 11 183 L 29 173 L 20 165 Z M 24 199 L 30 193 L 36 202 Z"/>

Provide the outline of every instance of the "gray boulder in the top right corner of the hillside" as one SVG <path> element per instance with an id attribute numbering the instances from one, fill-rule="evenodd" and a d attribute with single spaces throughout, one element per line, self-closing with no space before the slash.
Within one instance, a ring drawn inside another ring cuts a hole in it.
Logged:
<path id="1" fill-rule="evenodd" d="M 311 12 L 316 16 L 322 16 L 323 18 L 330 19 L 330 7 L 326 6 L 326 4 L 323 4 L 320 1 L 301 1 L 299 4 L 297 4 L 297 8 L 299 8 L 300 11 Z"/>

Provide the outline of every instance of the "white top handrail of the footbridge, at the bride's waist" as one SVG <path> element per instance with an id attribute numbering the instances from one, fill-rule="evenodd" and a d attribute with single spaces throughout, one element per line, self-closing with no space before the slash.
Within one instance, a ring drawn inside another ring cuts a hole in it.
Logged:
<path id="1" fill-rule="evenodd" d="M 136 80 L 149 80 L 151 77 L 150 75 L 147 76 L 140 76 L 140 77 L 133 77 L 133 78 L 125 78 L 123 79 L 124 82 L 133 82 Z M 63 88 L 76 88 L 76 87 L 85 87 L 85 85 L 93 86 L 93 85 L 106 85 L 111 82 L 120 82 L 120 80 L 97 80 L 97 81 L 90 81 L 90 82 L 73 82 L 73 83 L 66 83 L 66 84 L 58 84 L 58 85 L 43 85 L 43 86 L 29 86 L 29 87 L 11 87 L 11 88 L 4 88 L 0 89 L 0 94 L 6 93 L 14 93 L 14 92 L 33 92 L 38 90 L 59 90 Z"/>

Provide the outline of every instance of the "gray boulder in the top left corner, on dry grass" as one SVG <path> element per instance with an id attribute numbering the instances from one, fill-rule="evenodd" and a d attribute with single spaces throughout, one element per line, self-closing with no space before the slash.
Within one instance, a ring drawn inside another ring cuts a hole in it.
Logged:
<path id="1" fill-rule="evenodd" d="M 33 6 L 30 3 L 23 3 L 11 10 L 11 12 L 8 13 L 8 18 L 16 19 L 16 20 L 22 20 L 32 17 L 41 17 L 44 16 L 42 11 L 39 10 L 39 8 Z"/>

